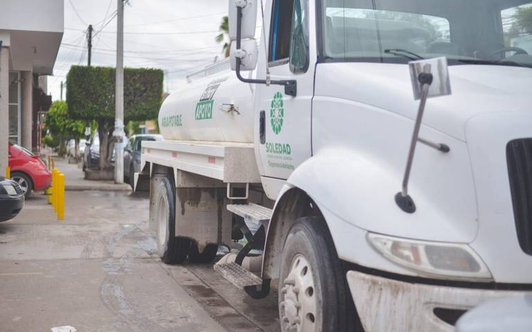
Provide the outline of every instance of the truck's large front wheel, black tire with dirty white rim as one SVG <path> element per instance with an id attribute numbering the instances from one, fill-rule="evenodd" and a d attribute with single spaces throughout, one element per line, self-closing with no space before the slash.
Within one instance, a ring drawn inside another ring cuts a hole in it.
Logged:
<path id="1" fill-rule="evenodd" d="M 278 285 L 281 331 L 364 331 L 323 218 L 292 225 Z"/>

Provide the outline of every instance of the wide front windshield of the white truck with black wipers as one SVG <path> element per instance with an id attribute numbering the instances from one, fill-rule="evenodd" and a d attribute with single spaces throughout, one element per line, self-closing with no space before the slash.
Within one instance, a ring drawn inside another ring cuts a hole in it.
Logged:
<path id="1" fill-rule="evenodd" d="M 531 0 L 321 0 L 321 62 L 532 67 Z"/>

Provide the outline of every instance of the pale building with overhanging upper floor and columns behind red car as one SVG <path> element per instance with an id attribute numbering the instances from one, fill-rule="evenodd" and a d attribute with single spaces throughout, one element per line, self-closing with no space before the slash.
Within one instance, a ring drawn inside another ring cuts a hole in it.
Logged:
<path id="1" fill-rule="evenodd" d="M 53 74 L 63 33 L 64 0 L 0 0 L 0 175 L 8 142 L 28 150 L 37 144 L 49 100 L 39 77 Z"/>

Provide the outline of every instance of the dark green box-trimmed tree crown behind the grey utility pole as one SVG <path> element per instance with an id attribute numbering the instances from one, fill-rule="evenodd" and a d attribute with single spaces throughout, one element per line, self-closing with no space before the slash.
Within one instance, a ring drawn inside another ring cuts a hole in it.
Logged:
<path id="1" fill-rule="evenodd" d="M 71 67 L 67 103 L 73 119 L 114 121 L 115 69 Z M 157 119 L 163 96 L 163 71 L 124 69 L 124 123 Z"/>

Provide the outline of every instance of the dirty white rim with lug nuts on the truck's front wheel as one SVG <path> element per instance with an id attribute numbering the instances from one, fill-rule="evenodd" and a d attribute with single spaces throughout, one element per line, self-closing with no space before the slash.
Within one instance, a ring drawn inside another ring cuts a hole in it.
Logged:
<path id="1" fill-rule="evenodd" d="M 315 331 L 317 296 L 311 265 L 305 256 L 292 259 L 290 273 L 281 288 L 281 324 L 283 331 Z"/>

